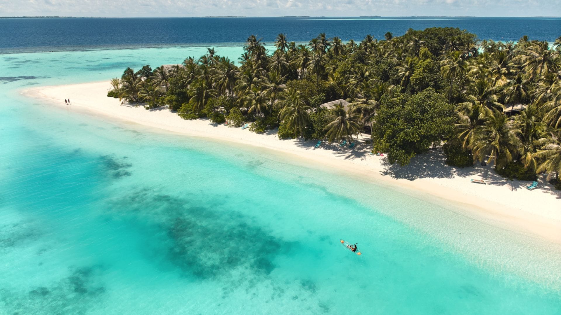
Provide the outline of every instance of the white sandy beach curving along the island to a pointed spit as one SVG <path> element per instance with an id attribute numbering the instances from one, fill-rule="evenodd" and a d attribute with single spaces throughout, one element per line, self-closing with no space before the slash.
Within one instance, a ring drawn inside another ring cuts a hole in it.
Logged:
<path id="1" fill-rule="evenodd" d="M 465 215 L 475 219 L 561 243 L 561 191 L 555 191 L 545 177 L 540 178 L 539 188 L 529 191 L 525 187 L 530 182 L 504 179 L 490 166 L 465 169 L 446 166 L 439 152 L 417 156 L 408 166 L 388 165 L 385 158 L 369 155 L 368 136 L 357 142 L 353 150 L 326 143 L 315 149 L 316 141 L 278 140 L 274 132 L 258 135 L 248 129 L 217 126 L 207 120 L 186 121 L 166 108 L 146 110 L 142 106 L 121 105 L 119 100 L 107 97 L 108 89 L 109 82 L 94 82 L 38 87 L 22 94 L 75 112 L 282 151 L 299 161 L 333 166 L 406 192 L 430 194 L 459 203 L 462 209 L 467 209 Z M 65 98 L 70 98 L 72 104 L 65 105 Z M 472 178 L 484 179 L 488 184 L 471 183 Z"/>

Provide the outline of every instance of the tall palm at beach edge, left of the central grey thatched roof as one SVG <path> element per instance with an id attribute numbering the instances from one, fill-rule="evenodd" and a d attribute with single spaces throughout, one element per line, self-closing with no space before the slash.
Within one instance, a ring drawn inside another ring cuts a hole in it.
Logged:
<path id="1" fill-rule="evenodd" d="M 300 132 L 300 136 L 304 138 L 304 128 L 310 121 L 310 106 L 307 106 L 300 99 L 300 91 L 289 89 L 283 95 L 283 99 L 279 101 L 282 109 L 279 112 L 280 121 L 286 122 L 288 128 L 295 132 Z"/>

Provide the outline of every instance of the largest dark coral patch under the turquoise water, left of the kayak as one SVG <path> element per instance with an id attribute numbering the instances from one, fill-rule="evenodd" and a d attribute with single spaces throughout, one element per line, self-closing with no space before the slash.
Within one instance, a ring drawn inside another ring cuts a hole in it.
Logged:
<path id="1" fill-rule="evenodd" d="M 206 198 L 197 202 L 140 189 L 118 200 L 112 209 L 157 222 L 168 238 L 169 261 L 186 274 L 200 279 L 228 277 L 240 269 L 270 274 L 275 258 L 295 242 L 275 237 L 255 225 L 254 218 L 230 209 L 225 200 L 214 196 L 214 202 Z"/>

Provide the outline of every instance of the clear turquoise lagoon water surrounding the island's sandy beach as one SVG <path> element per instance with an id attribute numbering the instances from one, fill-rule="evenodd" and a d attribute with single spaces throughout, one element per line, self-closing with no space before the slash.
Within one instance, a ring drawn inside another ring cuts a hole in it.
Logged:
<path id="1" fill-rule="evenodd" d="M 20 95 L 205 51 L 0 55 L 0 314 L 561 313 L 557 245 L 291 156 Z"/>

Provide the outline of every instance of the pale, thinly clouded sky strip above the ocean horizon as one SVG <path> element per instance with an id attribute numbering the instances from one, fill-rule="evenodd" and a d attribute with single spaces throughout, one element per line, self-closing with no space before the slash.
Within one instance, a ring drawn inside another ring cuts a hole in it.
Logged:
<path id="1" fill-rule="evenodd" d="M 0 16 L 561 16 L 561 0 L 0 0 Z"/>

